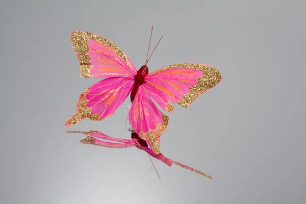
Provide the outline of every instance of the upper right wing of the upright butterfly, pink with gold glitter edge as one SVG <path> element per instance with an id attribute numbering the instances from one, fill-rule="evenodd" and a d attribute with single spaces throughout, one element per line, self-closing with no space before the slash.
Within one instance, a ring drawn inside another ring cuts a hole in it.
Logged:
<path id="1" fill-rule="evenodd" d="M 151 92 L 158 94 L 164 101 L 170 101 L 185 108 L 196 97 L 216 86 L 221 80 L 221 73 L 214 67 L 194 63 L 165 66 L 145 77 L 146 86 Z M 171 112 L 173 106 L 165 105 L 164 101 L 156 100 L 164 110 Z"/>

